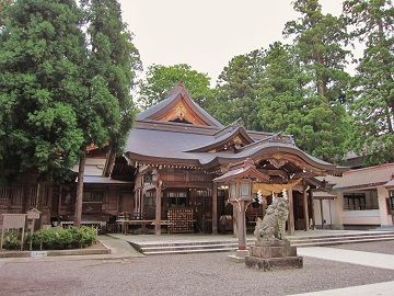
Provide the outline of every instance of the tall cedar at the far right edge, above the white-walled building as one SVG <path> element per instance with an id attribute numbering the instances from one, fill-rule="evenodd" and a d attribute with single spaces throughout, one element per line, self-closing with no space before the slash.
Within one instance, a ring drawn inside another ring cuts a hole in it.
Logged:
<path id="1" fill-rule="evenodd" d="M 355 150 L 370 164 L 394 161 L 394 8 L 390 0 L 349 0 L 344 14 L 352 37 L 366 43 L 350 93 Z"/>

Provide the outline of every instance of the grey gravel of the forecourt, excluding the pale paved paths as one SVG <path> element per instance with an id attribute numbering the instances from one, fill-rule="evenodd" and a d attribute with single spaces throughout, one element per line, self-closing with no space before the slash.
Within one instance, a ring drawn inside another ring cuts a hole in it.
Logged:
<path id="1" fill-rule="evenodd" d="M 0 295 L 289 295 L 386 282 L 394 271 L 304 258 L 303 270 L 258 272 L 224 253 L 2 263 Z"/>

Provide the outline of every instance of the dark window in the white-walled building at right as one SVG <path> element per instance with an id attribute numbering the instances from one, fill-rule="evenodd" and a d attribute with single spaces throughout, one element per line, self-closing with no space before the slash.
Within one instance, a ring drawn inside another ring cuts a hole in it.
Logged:
<path id="1" fill-rule="evenodd" d="M 378 195 L 375 191 L 366 191 L 344 194 L 345 210 L 379 209 Z"/>

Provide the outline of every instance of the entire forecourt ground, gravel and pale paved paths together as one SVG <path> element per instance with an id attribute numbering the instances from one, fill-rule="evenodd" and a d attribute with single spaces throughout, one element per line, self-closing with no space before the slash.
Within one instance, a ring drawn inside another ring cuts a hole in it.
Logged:
<path id="1" fill-rule="evenodd" d="M 137 258 L 126 241 L 101 239 L 114 250 L 111 255 L 0 259 L 0 295 L 392 296 L 394 291 L 394 255 L 379 253 L 394 241 L 299 248 L 302 270 L 263 273 L 228 261 L 228 253 Z M 346 258 L 358 264 L 341 262 Z"/>

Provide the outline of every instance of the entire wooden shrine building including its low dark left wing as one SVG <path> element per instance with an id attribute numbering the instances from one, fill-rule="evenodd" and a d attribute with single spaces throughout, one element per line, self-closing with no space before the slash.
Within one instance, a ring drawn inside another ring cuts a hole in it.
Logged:
<path id="1" fill-rule="evenodd" d="M 233 231 L 236 213 L 225 180 L 236 166 L 241 174 L 253 166 L 264 177 L 253 184 L 247 228 L 264 216 L 273 194 L 287 190 L 290 234 L 318 225 L 314 202 L 333 198 L 323 178 L 347 170 L 302 151 L 291 136 L 247 130 L 240 121 L 223 126 L 178 83 L 165 100 L 137 115 L 123 156 L 88 149 L 82 224 L 116 231 L 118 220 L 128 220 L 126 230 L 147 226 L 157 235 L 162 228 L 173 234 Z M 0 214 L 35 207 L 42 212 L 40 225 L 72 225 L 76 185 L 74 179 L 54 185 L 20 177 L 0 189 Z"/>

